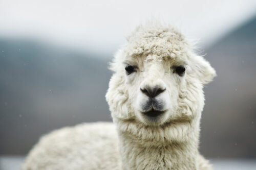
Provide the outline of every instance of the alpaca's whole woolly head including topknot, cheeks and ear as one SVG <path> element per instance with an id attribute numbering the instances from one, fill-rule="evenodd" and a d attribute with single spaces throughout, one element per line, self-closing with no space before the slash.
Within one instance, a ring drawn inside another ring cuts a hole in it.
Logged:
<path id="1" fill-rule="evenodd" d="M 199 119 L 214 68 L 173 27 L 146 25 L 116 54 L 106 100 L 114 119 L 147 126 Z"/>

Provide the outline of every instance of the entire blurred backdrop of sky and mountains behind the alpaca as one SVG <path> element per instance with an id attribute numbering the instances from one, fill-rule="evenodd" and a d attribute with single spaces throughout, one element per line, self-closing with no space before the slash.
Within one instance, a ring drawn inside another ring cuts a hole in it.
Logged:
<path id="1" fill-rule="evenodd" d="M 111 121 L 108 63 L 152 19 L 197 41 L 217 70 L 200 152 L 216 169 L 256 169 L 254 0 L 0 1 L 0 169 L 18 169 L 53 129 Z"/>

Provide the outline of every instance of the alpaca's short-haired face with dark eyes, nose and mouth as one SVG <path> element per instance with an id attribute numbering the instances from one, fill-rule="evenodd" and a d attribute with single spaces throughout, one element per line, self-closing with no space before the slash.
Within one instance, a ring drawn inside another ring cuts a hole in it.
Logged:
<path id="1" fill-rule="evenodd" d="M 151 60 L 152 56 L 123 62 L 125 84 L 136 117 L 144 124 L 159 125 L 177 110 L 179 86 L 185 79 L 185 62 Z M 133 67 L 133 69 L 131 69 Z M 179 73 L 177 68 L 183 68 Z"/>

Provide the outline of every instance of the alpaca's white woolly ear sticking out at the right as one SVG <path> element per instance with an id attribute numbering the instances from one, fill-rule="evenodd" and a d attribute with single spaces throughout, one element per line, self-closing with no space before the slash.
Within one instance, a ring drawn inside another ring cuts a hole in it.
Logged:
<path id="1" fill-rule="evenodd" d="M 203 84 L 208 84 L 216 76 L 216 71 L 202 56 L 193 56 L 193 72 Z"/>

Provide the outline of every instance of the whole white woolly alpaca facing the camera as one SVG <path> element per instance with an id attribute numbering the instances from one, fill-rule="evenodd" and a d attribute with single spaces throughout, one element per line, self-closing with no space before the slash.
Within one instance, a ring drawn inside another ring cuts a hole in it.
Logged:
<path id="1" fill-rule="evenodd" d="M 203 84 L 214 68 L 173 27 L 138 27 L 115 56 L 106 93 L 114 124 L 81 124 L 40 139 L 23 170 L 212 169 L 198 152 Z"/>

